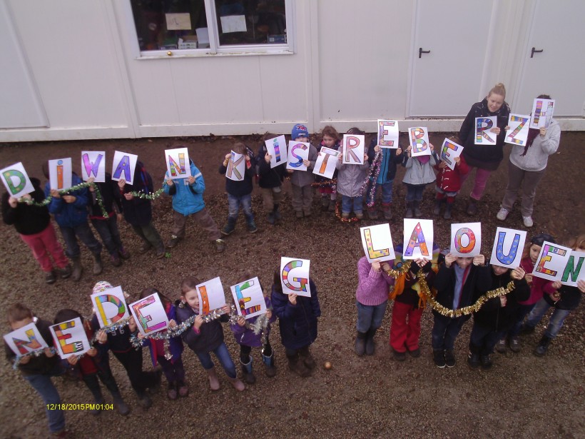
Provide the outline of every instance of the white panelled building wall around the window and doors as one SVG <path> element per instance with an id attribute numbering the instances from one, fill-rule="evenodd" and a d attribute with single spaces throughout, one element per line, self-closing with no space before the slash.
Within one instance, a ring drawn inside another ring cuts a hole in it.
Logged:
<path id="1" fill-rule="evenodd" d="M 427 0 L 295 0 L 294 54 L 158 59 L 141 59 L 129 1 L 0 1 L 49 124 L 0 129 L 0 141 L 285 133 L 296 122 L 311 131 L 327 123 L 373 131 L 377 118 L 395 118 L 402 130 L 423 125 L 407 111 L 415 14 Z M 484 17 L 496 31 L 482 86 L 457 99 L 470 106 L 502 81 L 514 109 L 534 1 L 494 0 L 492 17 Z M 456 131 L 461 120 L 431 118 L 424 126 Z M 561 124 L 585 129 L 579 117 Z"/>

